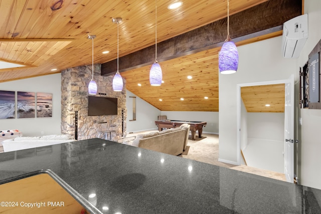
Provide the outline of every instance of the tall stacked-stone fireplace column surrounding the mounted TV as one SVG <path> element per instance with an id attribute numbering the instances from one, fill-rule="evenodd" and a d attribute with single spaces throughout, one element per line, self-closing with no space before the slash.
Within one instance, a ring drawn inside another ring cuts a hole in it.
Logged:
<path id="1" fill-rule="evenodd" d="M 105 138 L 115 140 L 126 133 L 126 83 L 121 92 L 112 90 L 111 76 L 101 76 L 101 64 L 94 65 L 97 95 L 118 99 L 117 115 L 88 116 L 88 84 L 92 77 L 91 65 L 61 72 L 61 133 L 75 136 L 75 113 L 78 112 L 78 140 Z M 123 123 L 122 123 L 123 121 Z M 123 127 L 122 127 L 123 124 Z M 107 135 L 106 135 L 107 134 Z"/>

